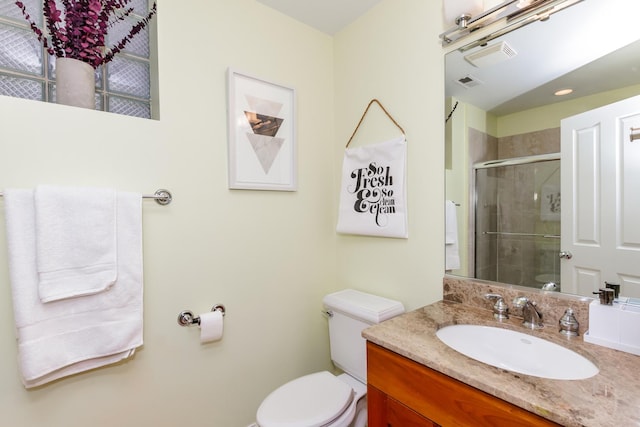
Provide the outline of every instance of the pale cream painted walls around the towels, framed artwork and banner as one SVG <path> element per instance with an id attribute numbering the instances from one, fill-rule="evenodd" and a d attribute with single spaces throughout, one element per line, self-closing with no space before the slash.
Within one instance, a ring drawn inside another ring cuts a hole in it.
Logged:
<path id="1" fill-rule="evenodd" d="M 144 347 L 35 390 L 17 373 L 0 232 L 3 425 L 244 427 L 270 390 L 331 369 L 324 294 L 351 286 L 409 308 L 441 297 L 439 2 L 384 0 L 335 38 L 254 0 L 159 3 L 160 121 L 0 97 L 0 188 L 174 194 L 144 202 Z M 228 190 L 228 66 L 296 88 L 297 192 Z M 408 240 L 335 233 L 342 148 L 373 97 L 409 140 Z M 176 317 L 215 303 L 224 339 L 201 345 Z"/>

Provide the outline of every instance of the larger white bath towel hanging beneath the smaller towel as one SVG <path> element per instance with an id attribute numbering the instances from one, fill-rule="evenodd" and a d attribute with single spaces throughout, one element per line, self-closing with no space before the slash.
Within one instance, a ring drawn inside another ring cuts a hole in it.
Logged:
<path id="1" fill-rule="evenodd" d="M 105 366 L 142 345 L 141 195 L 117 194 L 118 280 L 109 290 L 42 303 L 36 271 L 34 192 L 5 190 L 18 359 L 25 387 Z"/>

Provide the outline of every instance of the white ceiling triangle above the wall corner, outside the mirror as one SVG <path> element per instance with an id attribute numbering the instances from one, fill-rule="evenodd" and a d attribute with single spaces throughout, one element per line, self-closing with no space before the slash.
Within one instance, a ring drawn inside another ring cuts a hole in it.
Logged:
<path id="1" fill-rule="evenodd" d="M 323 33 L 334 35 L 381 0 L 257 0 Z"/>

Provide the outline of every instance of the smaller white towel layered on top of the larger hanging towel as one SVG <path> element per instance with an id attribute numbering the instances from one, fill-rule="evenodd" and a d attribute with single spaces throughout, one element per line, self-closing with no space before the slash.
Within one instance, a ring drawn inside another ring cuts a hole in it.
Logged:
<path id="1" fill-rule="evenodd" d="M 116 192 L 39 186 L 35 191 L 42 302 L 92 295 L 117 278 Z"/>

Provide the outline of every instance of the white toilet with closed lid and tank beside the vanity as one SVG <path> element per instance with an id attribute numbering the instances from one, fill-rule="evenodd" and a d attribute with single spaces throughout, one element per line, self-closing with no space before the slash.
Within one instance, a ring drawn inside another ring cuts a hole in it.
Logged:
<path id="1" fill-rule="evenodd" d="M 367 352 L 363 329 L 404 313 L 402 303 L 353 289 L 323 299 L 331 360 L 344 373 L 305 375 L 269 394 L 258 427 L 364 427 L 367 425 Z"/>

